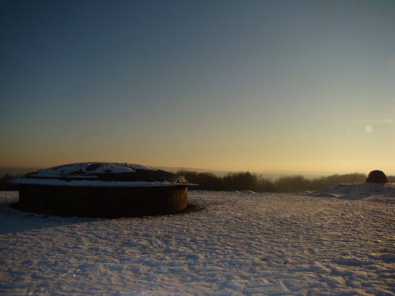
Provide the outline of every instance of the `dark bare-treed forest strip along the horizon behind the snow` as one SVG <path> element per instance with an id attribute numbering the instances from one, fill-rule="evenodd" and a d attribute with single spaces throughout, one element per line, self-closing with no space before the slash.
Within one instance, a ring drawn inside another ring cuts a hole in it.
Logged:
<path id="1" fill-rule="evenodd" d="M 276 180 L 266 179 L 262 175 L 250 172 L 230 172 L 219 177 L 211 172 L 195 172 L 179 170 L 175 174 L 185 177 L 188 182 L 198 184 L 190 187 L 191 190 L 232 191 L 250 190 L 255 192 L 298 192 L 306 190 L 319 190 L 344 183 L 365 182 L 366 174 L 353 173 L 345 175 L 322 176 L 315 179 L 306 179 L 302 175 L 283 176 Z M 18 190 L 15 185 L 7 184 L 8 181 L 23 175 L 10 175 L 0 178 L 0 190 Z M 395 176 L 387 176 L 389 182 L 395 182 Z"/>

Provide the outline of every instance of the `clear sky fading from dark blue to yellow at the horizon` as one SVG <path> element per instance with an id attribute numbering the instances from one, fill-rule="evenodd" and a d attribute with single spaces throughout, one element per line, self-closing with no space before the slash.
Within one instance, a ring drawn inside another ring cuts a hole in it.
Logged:
<path id="1" fill-rule="evenodd" d="M 395 1 L 4 0 L 0 166 L 395 174 Z"/>

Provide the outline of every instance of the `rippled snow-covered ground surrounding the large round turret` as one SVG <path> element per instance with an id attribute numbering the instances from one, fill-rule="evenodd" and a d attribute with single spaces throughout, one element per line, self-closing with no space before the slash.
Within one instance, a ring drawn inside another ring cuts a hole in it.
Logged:
<path id="1" fill-rule="evenodd" d="M 194 213 L 19 212 L 0 192 L 1 295 L 395 295 L 395 184 L 189 191 Z"/>

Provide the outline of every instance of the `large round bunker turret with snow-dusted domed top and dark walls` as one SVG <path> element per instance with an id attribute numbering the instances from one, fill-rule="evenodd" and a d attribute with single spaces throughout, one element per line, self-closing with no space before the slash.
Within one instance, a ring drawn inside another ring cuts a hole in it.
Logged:
<path id="1" fill-rule="evenodd" d="M 153 167 L 115 162 L 55 166 L 11 181 L 17 209 L 58 216 L 118 218 L 187 208 L 188 183 Z"/>

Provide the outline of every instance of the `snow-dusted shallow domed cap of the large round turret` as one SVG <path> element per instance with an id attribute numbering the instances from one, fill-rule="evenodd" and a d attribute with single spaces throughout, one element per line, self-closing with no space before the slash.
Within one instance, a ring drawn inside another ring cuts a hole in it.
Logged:
<path id="1" fill-rule="evenodd" d="M 11 183 L 66 186 L 195 185 L 170 172 L 118 162 L 79 162 L 54 166 L 14 179 Z"/>

